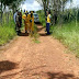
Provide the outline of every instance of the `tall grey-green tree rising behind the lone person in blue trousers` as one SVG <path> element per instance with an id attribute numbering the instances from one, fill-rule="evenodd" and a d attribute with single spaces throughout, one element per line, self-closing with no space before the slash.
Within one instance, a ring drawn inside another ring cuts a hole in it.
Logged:
<path id="1" fill-rule="evenodd" d="M 54 16 L 59 16 L 60 18 L 60 12 L 65 10 L 66 3 L 69 0 L 36 0 L 44 9 L 44 13 L 46 16 L 46 10 L 50 10 L 52 14 Z M 55 19 L 56 20 L 56 19 Z M 55 21 L 53 21 L 56 23 Z"/>

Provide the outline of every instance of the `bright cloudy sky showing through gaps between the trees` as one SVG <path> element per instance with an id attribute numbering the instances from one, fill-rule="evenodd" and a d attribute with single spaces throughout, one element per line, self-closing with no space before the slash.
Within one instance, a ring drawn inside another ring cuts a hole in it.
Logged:
<path id="1" fill-rule="evenodd" d="M 72 0 L 72 7 L 79 7 L 79 0 Z M 34 11 L 37 11 L 37 10 L 41 10 L 42 7 L 40 5 L 40 3 L 37 3 L 35 0 L 26 0 L 24 1 L 23 4 L 21 4 L 21 8 L 24 10 L 27 10 L 27 11 L 31 11 L 31 10 L 34 10 Z M 70 3 L 68 2 L 67 3 L 67 9 L 70 8 Z"/>

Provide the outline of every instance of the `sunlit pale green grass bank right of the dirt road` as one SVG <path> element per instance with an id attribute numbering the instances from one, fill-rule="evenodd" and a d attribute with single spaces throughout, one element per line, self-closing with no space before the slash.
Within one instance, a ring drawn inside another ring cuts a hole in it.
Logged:
<path id="1" fill-rule="evenodd" d="M 53 36 L 63 42 L 63 44 L 79 57 L 79 23 L 76 25 L 76 22 L 72 21 L 63 26 L 53 26 L 52 30 Z"/>

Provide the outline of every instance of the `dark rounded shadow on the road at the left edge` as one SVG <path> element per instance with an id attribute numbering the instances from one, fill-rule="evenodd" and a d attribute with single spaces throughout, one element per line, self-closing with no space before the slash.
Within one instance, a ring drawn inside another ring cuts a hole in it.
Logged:
<path id="1" fill-rule="evenodd" d="M 9 61 L 9 60 L 4 60 L 4 61 L 0 61 L 0 74 L 8 71 L 8 70 L 12 70 L 16 68 L 16 64 Z"/>

